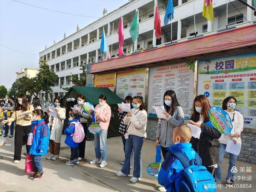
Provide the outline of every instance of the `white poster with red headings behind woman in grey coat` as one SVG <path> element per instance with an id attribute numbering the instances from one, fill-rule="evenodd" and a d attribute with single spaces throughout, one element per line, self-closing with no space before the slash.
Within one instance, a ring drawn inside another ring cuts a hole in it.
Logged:
<path id="1" fill-rule="evenodd" d="M 164 105 L 164 93 L 174 90 L 185 119 L 192 115 L 194 61 L 149 69 L 148 115 L 157 117 L 152 106 Z"/>

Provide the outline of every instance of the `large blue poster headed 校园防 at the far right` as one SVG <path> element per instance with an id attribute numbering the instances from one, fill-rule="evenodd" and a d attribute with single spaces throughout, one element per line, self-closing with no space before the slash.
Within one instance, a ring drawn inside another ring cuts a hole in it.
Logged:
<path id="1" fill-rule="evenodd" d="M 234 96 L 244 127 L 256 128 L 256 52 L 200 60 L 197 90 L 212 106 Z"/>

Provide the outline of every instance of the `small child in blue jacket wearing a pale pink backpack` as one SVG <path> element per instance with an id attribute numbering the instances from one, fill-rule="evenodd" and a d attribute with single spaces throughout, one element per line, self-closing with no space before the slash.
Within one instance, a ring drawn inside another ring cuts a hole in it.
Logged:
<path id="1" fill-rule="evenodd" d="M 66 165 L 74 165 L 74 163 L 78 164 L 79 160 L 79 149 L 78 143 L 84 140 L 84 128 L 82 124 L 79 122 L 78 114 L 70 113 L 69 114 L 69 122 L 68 127 L 64 130 L 64 134 L 67 135 L 65 144 L 70 146 L 71 148 L 71 155 L 70 160 L 66 162 Z"/>

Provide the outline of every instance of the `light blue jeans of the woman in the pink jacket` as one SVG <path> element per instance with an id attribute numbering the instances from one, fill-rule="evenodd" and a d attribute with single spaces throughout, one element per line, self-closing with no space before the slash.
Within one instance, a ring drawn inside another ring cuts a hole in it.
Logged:
<path id="1" fill-rule="evenodd" d="M 107 160 L 107 135 L 108 130 L 101 130 L 100 133 L 94 135 L 96 159 Z"/>

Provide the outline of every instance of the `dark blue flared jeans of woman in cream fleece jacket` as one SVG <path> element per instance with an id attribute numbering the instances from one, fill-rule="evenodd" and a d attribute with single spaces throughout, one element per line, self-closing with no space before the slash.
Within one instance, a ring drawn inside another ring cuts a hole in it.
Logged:
<path id="1" fill-rule="evenodd" d="M 144 142 L 143 137 L 138 137 L 135 135 L 130 135 L 129 139 L 126 140 L 125 143 L 125 160 L 124 166 L 121 170 L 122 173 L 129 175 L 130 174 L 130 166 L 131 166 L 131 155 L 132 149 L 134 149 L 134 177 L 142 177 L 142 160 L 141 160 L 141 149 Z"/>

